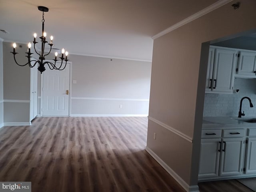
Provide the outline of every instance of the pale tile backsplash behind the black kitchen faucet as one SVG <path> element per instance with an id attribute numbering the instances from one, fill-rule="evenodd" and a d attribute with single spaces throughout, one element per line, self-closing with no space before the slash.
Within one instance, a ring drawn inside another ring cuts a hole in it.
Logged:
<path id="1" fill-rule="evenodd" d="M 244 117 L 256 118 L 256 79 L 235 78 L 233 94 L 206 93 L 204 97 L 204 116 L 238 116 L 240 100 L 247 96 L 252 100 L 254 107 L 250 108 L 249 101 L 243 100 L 242 112 Z"/>

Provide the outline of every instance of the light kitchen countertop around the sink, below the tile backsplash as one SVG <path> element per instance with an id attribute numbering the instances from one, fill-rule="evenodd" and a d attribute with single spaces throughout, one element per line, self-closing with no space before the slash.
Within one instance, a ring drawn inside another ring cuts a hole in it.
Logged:
<path id="1" fill-rule="evenodd" d="M 225 129 L 225 128 L 256 128 L 255 123 L 242 122 L 239 120 L 256 119 L 238 117 L 203 117 L 202 129 Z"/>

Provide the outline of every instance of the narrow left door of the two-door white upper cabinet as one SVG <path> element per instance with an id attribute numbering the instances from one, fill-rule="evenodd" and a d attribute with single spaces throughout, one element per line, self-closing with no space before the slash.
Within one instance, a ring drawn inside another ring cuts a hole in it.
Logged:
<path id="1" fill-rule="evenodd" d="M 209 49 L 209 56 L 208 56 L 208 66 L 207 66 L 207 74 L 206 74 L 206 84 L 205 90 L 206 92 L 211 91 L 212 87 L 212 72 L 213 72 L 213 62 L 214 62 L 214 48 Z"/>

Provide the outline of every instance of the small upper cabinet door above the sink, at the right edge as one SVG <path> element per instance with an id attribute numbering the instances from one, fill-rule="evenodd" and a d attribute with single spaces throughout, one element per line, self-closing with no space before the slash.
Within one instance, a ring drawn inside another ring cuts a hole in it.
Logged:
<path id="1" fill-rule="evenodd" d="M 237 74 L 255 76 L 254 71 L 256 71 L 256 52 L 241 51 Z"/>

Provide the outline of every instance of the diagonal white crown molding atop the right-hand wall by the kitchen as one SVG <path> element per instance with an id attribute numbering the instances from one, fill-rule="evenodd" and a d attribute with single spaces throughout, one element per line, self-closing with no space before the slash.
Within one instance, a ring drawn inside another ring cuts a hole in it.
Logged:
<path id="1" fill-rule="evenodd" d="M 205 14 L 208 14 L 208 13 L 212 12 L 213 10 L 216 10 L 216 9 L 220 8 L 221 6 L 227 4 L 227 3 L 231 2 L 231 1 L 232 0 L 219 0 L 216 3 L 214 3 L 214 4 L 204 8 L 203 10 L 201 10 L 201 11 L 199 11 L 199 12 L 197 12 L 197 13 L 189 16 L 189 17 L 187 17 L 186 19 L 184 19 L 184 20 L 182 20 L 182 21 L 180 21 L 180 22 L 170 26 L 166 30 L 163 30 L 162 32 L 152 36 L 152 39 L 159 38 L 159 37 L 161 37 L 161 36 L 171 32 L 171 31 L 173 31 L 173 30 L 175 30 L 175 29 L 177 29 L 177 28 L 179 28 L 179 27 L 181 27 L 181 26 L 183 26 L 183 25 L 185 25 L 185 24 L 187 24 L 187 23 L 189 23 L 189 22 L 191 22 L 193 20 L 196 20 L 197 18 L 199 18 L 201 16 L 204 16 Z"/>

